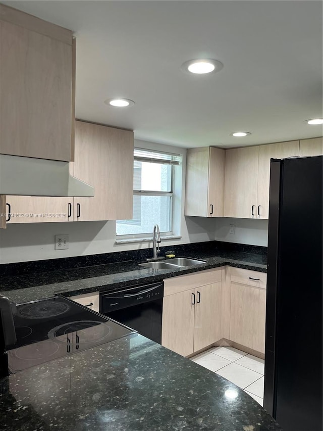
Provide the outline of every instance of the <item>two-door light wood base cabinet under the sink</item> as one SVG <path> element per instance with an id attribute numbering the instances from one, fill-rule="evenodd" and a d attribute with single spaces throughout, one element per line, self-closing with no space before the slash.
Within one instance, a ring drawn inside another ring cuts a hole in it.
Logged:
<path id="1" fill-rule="evenodd" d="M 190 287 L 192 282 L 198 284 L 198 274 L 214 282 Z M 220 340 L 221 274 L 221 269 L 208 270 L 164 280 L 164 347 L 188 356 Z M 180 292 L 169 294 L 176 287 Z"/>

